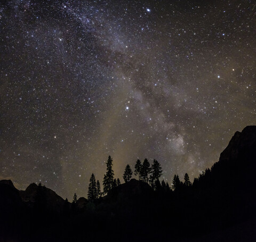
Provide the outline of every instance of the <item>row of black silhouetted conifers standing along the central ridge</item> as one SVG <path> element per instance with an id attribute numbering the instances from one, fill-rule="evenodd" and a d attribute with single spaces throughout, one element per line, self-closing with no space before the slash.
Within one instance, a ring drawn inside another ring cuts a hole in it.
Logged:
<path id="1" fill-rule="evenodd" d="M 133 171 L 131 169 L 131 166 L 127 164 L 125 166 L 123 179 L 125 182 L 128 182 L 132 178 Z M 163 170 L 161 165 L 157 160 L 154 160 L 153 163 L 150 166 L 149 161 L 147 158 L 143 162 L 141 162 L 139 159 L 135 163 L 134 166 L 134 175 L 138 176 L 138 179 L 143 182 L 149 183 L 149 185 L 154 189 L 164 189 L 166 191 L 177 191 L 182 188 L 190 187 L 192 183 L 189 180 L 189 176 L 186 173 L 184 177 L 184 182 L 180 181 L 180 178 L 178 175 L 174 175 L 174 178 L 172 180 L 172 188 L 170 188 L 169 183 L 162 180 L 162 182 L 159 181 L 159 178 L 162 176 Z M 90 201 L 94 201 L 95 199 L 100 198 L 102 195 L 108 194 L 108 192 L 121 185 L 119 178 L 114 178 L 114 171 L 113 171 L 113 159 L 111 156 L 108 156 L 107 160 L 107 172 L 104 174 L 103 178 L 103 192 L 101 192 L 101 186 L 99 180 L 96 181 L 94 174 L 92 173 L 91 178 L 89 180 L 89 188 L 87 193 L 87 198 Z M 77 202 L 77 195 L 74 194 L 73 197 L 73 204 Z"/>

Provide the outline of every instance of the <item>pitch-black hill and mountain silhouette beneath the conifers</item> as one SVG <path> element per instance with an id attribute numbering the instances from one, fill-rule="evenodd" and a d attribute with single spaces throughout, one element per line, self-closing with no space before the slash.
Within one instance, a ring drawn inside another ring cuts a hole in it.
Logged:
<path id="1" fill-rule="evenodd" d="M 0 241 L 256 241 L 256 127 L 236 132 L 193 186 L 132 179 L 76 205 L 31 184 L 0 181 Z"/>

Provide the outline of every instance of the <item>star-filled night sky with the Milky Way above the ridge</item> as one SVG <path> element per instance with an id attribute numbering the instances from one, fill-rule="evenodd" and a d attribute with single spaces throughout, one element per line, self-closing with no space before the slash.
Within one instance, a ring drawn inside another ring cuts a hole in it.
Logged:
<path id="1" fill-rule="evenodd" d="M 147 157 L 170 184 L 193 181 L 256 124 L 254 12 L 243 0 L 2 0 L 0 179 L 86 197 L 111 155 L 116 178 Z"/>

